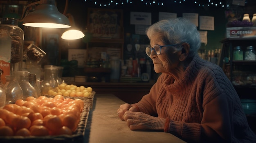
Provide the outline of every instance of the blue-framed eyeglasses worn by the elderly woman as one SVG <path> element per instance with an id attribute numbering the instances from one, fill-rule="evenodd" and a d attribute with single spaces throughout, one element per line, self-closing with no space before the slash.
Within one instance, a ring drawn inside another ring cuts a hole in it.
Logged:
<path id="1" fill-rule="evenodd" d="M 166 47 L 166 46 L 172 46 L 173 51 L 171 51 L 171 53 L 176 53 L 177 51 L 180 51 L 182 49 L 181 44 L 172 44 L 172 45 L 164 45 L 164 46 L 155 45 L 153 48 L 146 47 L 146 54 L 148 55 L 148 57 L 150 57 L 152 51 L 154 50 L 157 55 L 160 55 L 162 47 Z"/>

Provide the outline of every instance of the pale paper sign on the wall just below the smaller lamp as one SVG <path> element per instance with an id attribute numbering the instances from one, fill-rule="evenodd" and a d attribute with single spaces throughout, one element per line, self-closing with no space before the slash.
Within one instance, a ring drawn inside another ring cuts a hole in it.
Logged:
<path id="1" fill-rule="evenodd" d="M 86 60 L 86 50 L 85 49 L 68 49 L 68 60 L 77 60 L 78 67 L 83 68 L 85 66 Z"/>

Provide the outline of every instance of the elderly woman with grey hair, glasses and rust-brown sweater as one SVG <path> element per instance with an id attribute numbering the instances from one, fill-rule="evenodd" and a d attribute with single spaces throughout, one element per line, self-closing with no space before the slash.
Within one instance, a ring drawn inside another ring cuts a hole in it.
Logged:
<path id="1" fill-rule="evenodd" d="M 162 75 L 138 103 L 117 110 L 130 130 L 169 132 L 188 142 L 256 143 L 233 85 L 218 65 L 197 54 L 194 24 L 162 20 L 146 34 L 146 54 Z"/>

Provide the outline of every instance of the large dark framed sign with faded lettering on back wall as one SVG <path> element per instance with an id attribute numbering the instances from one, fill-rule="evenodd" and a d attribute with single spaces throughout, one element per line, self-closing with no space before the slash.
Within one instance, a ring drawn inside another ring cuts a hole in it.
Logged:
<path id="1" fill-rule="evenodd" d="M 92 37 L 120 39 L 123 30 L 123 11 L 89 8 L 87 22 Z"/>

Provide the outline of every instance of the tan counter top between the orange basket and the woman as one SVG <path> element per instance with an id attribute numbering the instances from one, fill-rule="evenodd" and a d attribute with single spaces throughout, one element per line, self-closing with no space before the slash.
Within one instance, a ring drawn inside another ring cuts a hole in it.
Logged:
<path id="1" fill-rule="evenodd" d="M 132 131 L 117 116 L 125 102 L 112 94 L 95 94 L 84 143 L 185 143 L 166 132 Z"/>

